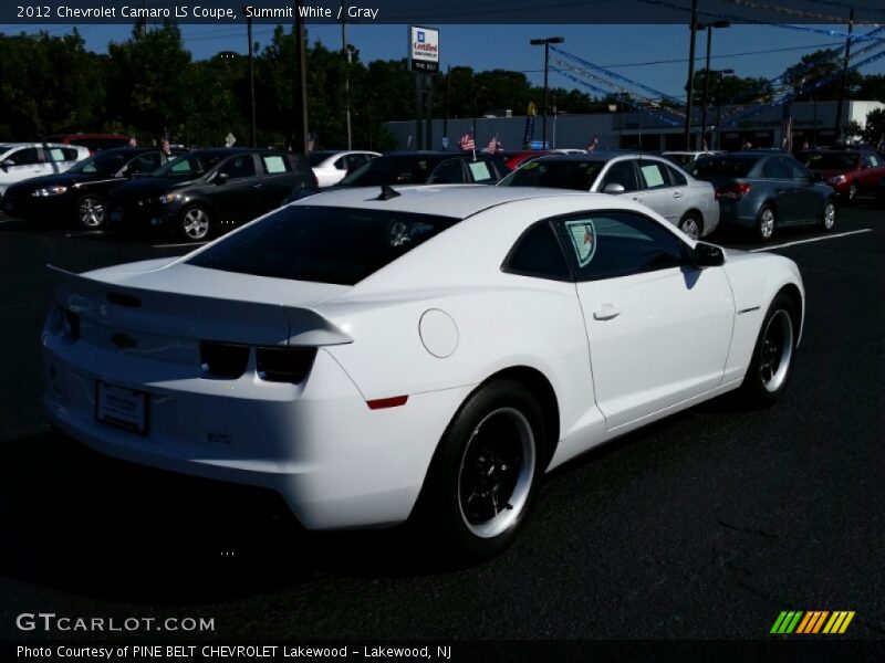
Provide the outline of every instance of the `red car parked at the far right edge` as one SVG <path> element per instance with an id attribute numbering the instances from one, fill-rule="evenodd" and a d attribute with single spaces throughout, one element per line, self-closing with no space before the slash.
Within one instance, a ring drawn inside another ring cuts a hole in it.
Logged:
<path id="1" fill-rule="evenodd" d="M 819 149 L 796 158 L 848 202 L 864 193 L 874 196 L 885 177 L 885 162 L 872 151 Z"/>

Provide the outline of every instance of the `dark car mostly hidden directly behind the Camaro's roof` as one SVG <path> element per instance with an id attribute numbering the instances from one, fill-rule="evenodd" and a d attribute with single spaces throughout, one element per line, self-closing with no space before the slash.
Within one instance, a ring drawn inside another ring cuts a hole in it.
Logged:
<path id="1" fill-rule="evenodd" d="M 498 158 L 447 151 L 395 151 L 372 159 L 341 180 L 342 187 L 379 185 L 493 185 L 501 179 Z"/>

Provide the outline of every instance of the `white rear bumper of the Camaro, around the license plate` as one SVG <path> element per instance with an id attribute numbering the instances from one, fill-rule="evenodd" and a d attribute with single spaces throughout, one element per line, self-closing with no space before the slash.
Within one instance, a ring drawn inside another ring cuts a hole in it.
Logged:
<path id="1" fill-rule="evenodd" d="M 194 369 L 43 336 L 44 406 L 79 442 L 173 472 L 270 488 L 309 529 L 405 520 L 469 387 L 369 410 L 324 350 L 300 386 L 204 379 Z M 81 347 L 77 347 L 81 346 Z M 83 347 L 85 346 L 85 347 Z M 95 382 L 144 391 L 148 434 L 100 422 Z"/>

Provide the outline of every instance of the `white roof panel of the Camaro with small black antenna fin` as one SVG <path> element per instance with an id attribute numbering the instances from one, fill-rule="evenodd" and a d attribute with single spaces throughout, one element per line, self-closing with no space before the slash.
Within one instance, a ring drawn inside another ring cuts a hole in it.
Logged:
<path id="1" fill-rule="evenodd" d="M 605 193 L 534 189 L 528 187 L 488 187 L 483 185 L 445 185 L 393 187 L 400 196 L 377 200 L 381 187 L 354 187 L 323 191 L 293 204 L 348 207 L 397 212 L 426 212 L 435 215 L 466 219 L 491 207 L 518 200 L 562 198 L 563 196 L 611 197 Z"/>

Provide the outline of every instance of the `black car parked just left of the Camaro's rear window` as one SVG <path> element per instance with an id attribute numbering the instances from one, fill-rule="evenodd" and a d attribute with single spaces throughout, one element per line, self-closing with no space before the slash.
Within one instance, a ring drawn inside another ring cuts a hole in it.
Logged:
<path id="1" fill-rule="evenodd" d="M 186 152 L 111 193 L 108 228 L 165 230 L 187 241 L 226 232 L 312 187 L 304 155 L 249 148 Z"/>

